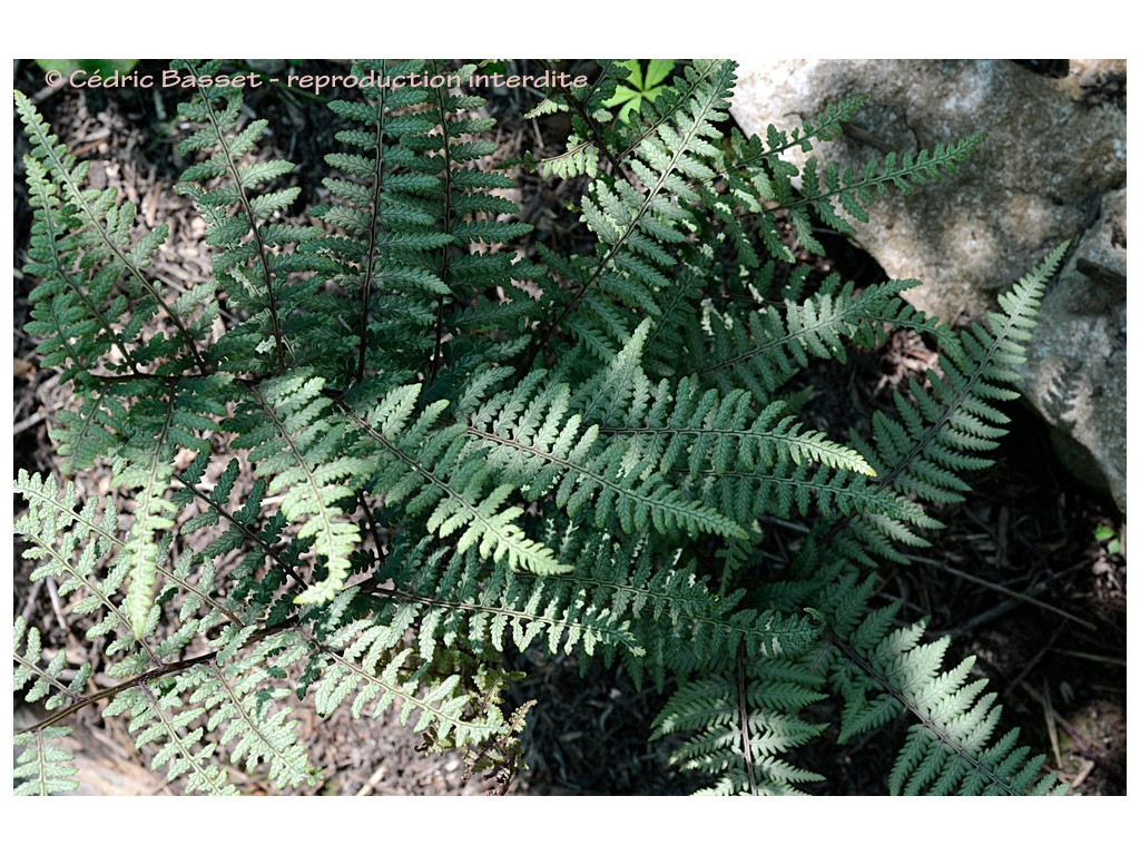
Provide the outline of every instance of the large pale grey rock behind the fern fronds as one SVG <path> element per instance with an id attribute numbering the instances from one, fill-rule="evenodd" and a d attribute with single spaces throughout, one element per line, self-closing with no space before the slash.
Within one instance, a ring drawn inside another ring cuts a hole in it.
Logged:
<path id="1" fill-rule="evenodd" d="M 1023 391 L 1086 450 L 1097 471 L 1084 477 L 1107 484 L 1122 512 L 1126 122 L 1090 87 L 1124 70 L 1118 60 L 1074 60 L 1058 80 L 1008 60 L 774 60 L 742 65 L 732 111 L 763 137 L 769 123 L 790 131 L 830 104 L 870 95 L 854 133 L 790 157 L 840 170 L 881 158 L 883 148 L 933 149 L 988 132 L 956 174 L 876 199 L 857 242 L 888 276 L 922 280 L 907 292 L 911 302 L 959 323 L 984 317 L 997 292 L 1074 241 L 1043 307 Z"/>

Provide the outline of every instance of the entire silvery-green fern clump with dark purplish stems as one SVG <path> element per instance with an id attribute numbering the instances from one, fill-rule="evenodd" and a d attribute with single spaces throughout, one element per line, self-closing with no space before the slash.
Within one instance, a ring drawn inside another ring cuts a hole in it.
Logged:
<path id="1" fill-rule="evenodd" d="M 255 156 L 267 123 L 209 84 L 222 67 L 174 64 L 199 83 L 176 189 L 213 264 L 188 291 L 148 272 L 165 228 L 140 233 L 133 206 L 87 189 L 16 93 L 27 332 L 76 399 L 52 438 L 65 472 L 109 464 L 115 488 L 16 479 L 33 580 L 57 579 L 101 646 L 97 674 L 70 675 L 17 619 L 16 689 L 44 710 L 16 736 L 18 792 L 76 785 L 57 741 L 104 702 L 188 792 L 235 792 L 238 765 L 319 785 L 302 702 L 396 708 L 502 791 L 530 706 L 504 689 L 531 648 L 669 690 L 654 735 L 685 740 L 702 791 L 811 791 L 796 751 L 828 698 L 840 740 L 911 718 L 896 791 L 1056 787 L 1016 733 L 996 738 L 970 660 L 943 670 L 946 642 L 872 591 L 938 524 L 929 503 L 987 464 L 1064 247 L 956 333 L 902 302 L 910 280 L 812 282 L 776 220 L 820 251 L 817 223 L 848 229 L 872 189 L 939 178 L 980 136 L 860 174 L 811 162 L 797 185 L 780 155 L 841 132 L 863 99 L 726 138 L 733 63 L 684 65 L 618 122 L 604 101 L 625 68 L 603 62 L 534 111 L 572 116 L 565 154 L 530 164 L 584 188 L 567 253 L 516 221 L 483 98 L 376 82 L 445 64 L 353 65 L 372 82 L 327 105 L 332 199 L 308 219 L 293 164 Z M 798 375 L 898 327 L 938 342 L 928 385 L 866 438 L 806 422 Z M 805 532 L 782 562 L 763 548 L 772 520 Z"/>

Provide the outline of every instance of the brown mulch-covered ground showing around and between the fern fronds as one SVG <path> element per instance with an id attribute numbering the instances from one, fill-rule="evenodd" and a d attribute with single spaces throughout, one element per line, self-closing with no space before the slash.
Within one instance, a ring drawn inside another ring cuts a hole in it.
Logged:
<path id="1" fill-rule="evenodd" d="M 161 72 L 145 62 L 142 71 Z M 343 70 L 340 71 L 343 73 Z M 16 73 L 18 89 L 39 109 L 74 154 L 92 161 L 91 186 L 116 187 L 136 202 L 148 226 L 171 223 L 171 235 L 156 271 L 172 282 L 209 277 L 209 259 L 199 249 L 201 222 L 188 199 L 170 188 L 184 168 L 177 155 L 174 125 L 180 92 L 173 89 L 46 89 L 42 72 L 30 62 Z M 481 95 L 489 95 L 483 91 Z M 324 97 L 324 96 L 323 96 Z M 521 90 L 490 97 L 487 109 L 499 124 L 504 154 L 537 157 L 562 149 L 567 127 L 559 116 L 523 120 L 532 106 Z M 296 180 L 304 190 L 296 207 L 320 201 L 323 154 L 332 150 L 324 106 L 307 92 L 267 89 L 251 92 L 247 106 L 278 128 L 266 157 L 284 156 L 302 164 Z M 51 370 L 41 370 L 35 341 L 22 332 L 27 295 L 25 278 L 28 223 L 21 156 L 16 142 L 15 199 L 15 456 L 16 466 L 57 472 L 48 435 L 55 414 L 71 404 Z M 538 223 L 539 238 L 557 244 L 572 239 L 563 201 L 580 186 L 540 182 L 516 171 L 523 217 Z M 815 262 L 819 272 L 836 270 L 858 285 L 885 276 L 873 260 L 846 243 L 829 246 Z M 811 407 L 821 421 L 836 408 L 869 414 L 910 376 L 936 359 L 917 335 L 897 334 L 873 352 L 853 353 L 847 365 L 829 363 L 812 381 Z M 82 495 L 105 495 L 109 470 L 78 474 Z M 935 632 L 954 638 L 956 654 L 975 654 L 976 670 L 992 677 L 1001 692 L 1003 726 L 1018 725 L 1029 744 L 1047 755 L 1057 772 L 1082 795 L 1125 792 L 1125 560 L 1113 554 L 1094 531 L 1119 531 L 1112 502 L 1075 482 L 1058 464 L 1047 429 L 1027 412 L 1015 414 L 996 465 L 974 479 L 968 503 L 939 508 L 945 522 L 935 548 L 905 571 L 881 580 L 883 602 L 901 597 L 904 617 L 930 617 Z M 18 510 L 18 508 L 17 508 Z M 779 529 L 774 548 L 780 548 Z M 17 546 L 14 610 L 39 626 L 46 648 L 71 649 L 79 638 L 68 603 L 50 583 L 32 584 L 31 567 Z M 646 741 L 662 698 L 638 691 L 624 674 L 593 670 L 586 679 L 576 661 L 527 658 L 516 666 L 527 677 L 513 687 L 522 702 L 537 699 L 528 717 L 524 769 L 512 795 L 681 795 L 694 782 L 668 765 L 671 746 Z M 820 708 L 838 720 L 839 709 Z M 40 710 L 17 706 L 16 727 L 34 723 Z M 329 719 L 300 710 L 302 740 L 312 760 L 326 769 L 326 795 L 482 793 L 492 785 L 467 780 L 463 758 L 417 750 L 420 739 L 389 712 L 378 720 L 350 720 L 344 709 Z M 140 764 L 133 738 L 120 723 L 104 722 L 88 708 L 78 716 L 73 752 L 84 793 L 171 793 L 164 775 Z M 838 728 L 836 728 L 838 730 Z M 883 792 L 894 747 L 902 731 L 883 731 L 871 740 L 837 747 L 817 740 L 799 765 L 813 768 L 828 784 L 808 787 L 820 795 Z M 234 772 L 234 781 L 256 792 L 260 783 Z"/>

